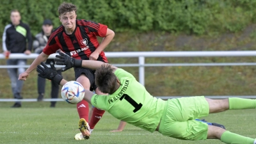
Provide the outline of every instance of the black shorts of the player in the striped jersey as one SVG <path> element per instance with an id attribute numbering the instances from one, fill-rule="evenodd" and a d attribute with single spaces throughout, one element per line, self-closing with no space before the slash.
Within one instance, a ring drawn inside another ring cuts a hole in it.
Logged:
<path id="1" fill-rule="evenodd" d="M 83 67 L 75 67 L 75 77 L 76 79 L 81 76 L 81 74 L 84 74 L 90 81 L 90 91 L 96 90 L 97 86 L 95 84 L 95 70 L 92 70 L 90 68 L 83 68 Z"/>

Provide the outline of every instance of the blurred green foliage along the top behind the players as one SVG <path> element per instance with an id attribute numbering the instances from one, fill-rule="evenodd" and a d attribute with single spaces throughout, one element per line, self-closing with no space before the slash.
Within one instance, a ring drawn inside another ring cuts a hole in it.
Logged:
<path id="1" fill-rule="evenodd" d="M 256 21 L 255 0 L 67 0 L 76 4 L 77 19 L 106 24 L 116 32 L 168 31 L 188 34 L 237 32 Z M 18 9 L 33 35 L 44 19 L 61 25 L 58 6 L 63 0 L 8 0 L 0 5 L 0 34 Z"/>

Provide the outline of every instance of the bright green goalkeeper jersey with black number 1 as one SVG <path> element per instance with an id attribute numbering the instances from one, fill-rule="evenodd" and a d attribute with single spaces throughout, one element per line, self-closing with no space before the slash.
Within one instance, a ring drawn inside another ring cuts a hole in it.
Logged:
<path id="1" fill-rule="evenodd" d="M 135 77 L 122 68 L 115 71 L 121 86 L 111 95 L 93 95 L 96 108 L 108 111 L 115 118 L 154 132 L 161 120 L 166 101 L 156 99 Z"/>

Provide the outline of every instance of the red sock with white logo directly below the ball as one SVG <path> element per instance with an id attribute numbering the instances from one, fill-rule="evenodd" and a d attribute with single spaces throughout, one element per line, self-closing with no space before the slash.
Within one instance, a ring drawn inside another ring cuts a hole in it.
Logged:
<path id="1" fill-rule="evenodd" d="M 79 118 L 84 118 L 86 122 L 88 121 L 88 115 L 89 115 L 89 104 L 85 100 L 82 100 L 78 104 L 76 104 L 77 112 L 79 115 Z"/>

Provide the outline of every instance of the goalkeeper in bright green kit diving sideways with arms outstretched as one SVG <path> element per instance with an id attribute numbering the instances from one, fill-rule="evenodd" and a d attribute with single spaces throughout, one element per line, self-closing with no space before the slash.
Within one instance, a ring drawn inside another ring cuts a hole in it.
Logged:
<path id="1" fill-rule="evenodd" d="M 65 65 L 63 70 L 72 67 L 95 69 L 96 85 L 101 92 L 109 95 L 97 95 L 85 90 L 84 100 L 136 127 L 150 132 L 158 131 L 164 136 L 180 140 L 219 139 L 223 143 L 256 144 L 254 138 L 241 136 L 221 127 L 195 120 L 208 116 L 209 113 L 228 109 L 255 109 L 256 100 L 241 98 L 213 100 L 198 96 L 165 101 L 152 97 L 132 74 L 122 68 L 101 61 L 76 60 L 62 53 L 57 55 L 54 61 L 57 65 Z M 54 70 L 53 64 L 51 68 L 44 63 L 41 64 L 44 67 L 38 65 L 39 76 L 56 81 L 60 85 L 67 83 Z M 90 136 L 85 120 L 79 121 L 79 127 L 84 136 Z"/>

